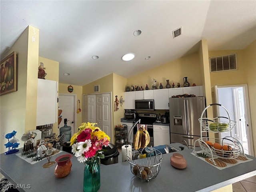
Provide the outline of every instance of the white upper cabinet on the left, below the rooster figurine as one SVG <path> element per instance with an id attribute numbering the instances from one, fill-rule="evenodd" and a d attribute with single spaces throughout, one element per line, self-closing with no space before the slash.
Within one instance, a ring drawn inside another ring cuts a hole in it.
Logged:
<path id="1" fill-rule="evenodd" d="M 38 79 L 36 126 L 57 122 L 58 82 Z"/>

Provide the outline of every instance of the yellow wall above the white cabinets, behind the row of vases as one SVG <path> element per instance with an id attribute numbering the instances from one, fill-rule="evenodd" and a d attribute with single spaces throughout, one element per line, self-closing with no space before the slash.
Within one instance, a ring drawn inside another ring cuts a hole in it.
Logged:
<path id="1" fill-rule="evenodd" d="M 188 77 L 188 82 L 192 86 L 195 83 L 197 86 L 202 85 L 203 82 L 200 77 L 200 60 L 198 58 L 198 52 L 184 56 L 172 62 L 168 62 L 161 66 L 157 66 L 153 69 L 147 70 L 138 75 L 134 75 L 127 79 L 126 86 L 142 86 L 146 87 L 148 84 L 149 89 L 152 88 L 152 78 L 156 78 L 157 88 L 159 88 L 160 82 L 162 85 L 166 86 L 166 80 L 170 80 L 170 84 L 174 82 L 175 87 L 177 83 L 180 83 L 180 86 L 183 87 L 183 78 Z"/>

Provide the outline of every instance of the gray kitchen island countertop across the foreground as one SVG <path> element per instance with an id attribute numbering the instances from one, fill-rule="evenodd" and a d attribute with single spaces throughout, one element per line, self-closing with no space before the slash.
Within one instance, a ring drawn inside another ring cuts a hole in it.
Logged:
<path id="1" fill-rule="evenodd" d="M 177 146 L 175 146 L 177 148 Z M 191 154 L 192 149 L 186 149 L 178 153 L 182 154 L 187 161 L 184 170 L 178 170 L 170 165 L 172 153 L 163 154 L 163 161 L 158 176 L 149 182 L 140 180 L 130 171 L 128 162 L 118 162 L 111 165 L 100 166 L 101 186 L 99 192 L 195 192 L 212 191 L 234 182 L 244 180 L 256 175 L 256 158 L 248 156 L 251 161 L 238 164 L 223 170 L 200 160 Z M 52 157 L 66 154 L 62 152 Z M 79 163 L 76 157 L 72 157 L 72 168 L 68 176 L 56 178 L 54 176 L 55 165 L 43 168 L 47 160 L 36 164 L 29 164 L 16 154 L 1 154 L 1 173 L 25 192 L 79 192 L 83 191 L 84 164 Z M 29 186 L 29 187 L 28 187 Z"/>

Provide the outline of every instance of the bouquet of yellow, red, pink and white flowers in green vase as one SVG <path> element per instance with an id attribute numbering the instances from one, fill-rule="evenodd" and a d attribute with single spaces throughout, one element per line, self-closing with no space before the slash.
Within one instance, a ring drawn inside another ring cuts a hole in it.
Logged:
<path id="1" fill-rule="evenodd" d="M 96 124 L 90 122 L 82 123 L 78 127 L 78 132 L 70 139 L 72 153 L 80 163 L 104 158 L 104 154 L 102 154 L 104 149 L 102 147 L 108 146 L 110 138 L 99 127 L 96 127 Z"/>

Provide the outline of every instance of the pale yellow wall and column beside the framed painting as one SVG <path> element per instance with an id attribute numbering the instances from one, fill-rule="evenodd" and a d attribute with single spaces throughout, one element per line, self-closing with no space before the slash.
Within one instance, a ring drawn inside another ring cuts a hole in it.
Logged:
<path id="1" fill-rule="evenodd" d="M 36 129 L 38 50 L 39 30 L 28 26 L 6 54 L 17 52 L 17 91 L 0 97 L 1 136 L 15 130 L 15 137 L 20 140 L 26 131 Z M 7 139 L 1 138 L 1 153 L 8 150 L 6 142 Z M 20 142 L 19 147 L 22 146 Z"/>

